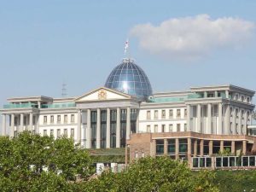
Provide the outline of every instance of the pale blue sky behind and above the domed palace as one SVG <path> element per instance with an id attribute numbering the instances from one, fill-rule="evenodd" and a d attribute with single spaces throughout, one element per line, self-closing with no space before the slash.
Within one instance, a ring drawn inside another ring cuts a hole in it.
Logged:
<path id="1" fill-rule="evenodd" d="M 154 91 L 214 84 L 256 90 L 255 9 L 253 0 L 0 0 L 0 103 L 60 97 L 63 81 L 68 96 L 102 86 L 124 57 L 126 38 Z M 143 45 L 163 33 L 160 44 Z"/>

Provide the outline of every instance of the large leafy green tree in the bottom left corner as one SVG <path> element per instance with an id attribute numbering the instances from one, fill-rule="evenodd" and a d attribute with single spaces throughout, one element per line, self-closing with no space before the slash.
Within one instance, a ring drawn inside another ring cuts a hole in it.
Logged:
<path id="1" fill-rule="evenodd" d="M 73 139 L 28 131 L 13 139 L 0 137 L 1 191 L 68 191 L 67 182 L 87 180 L 93 172 L 88 152 Z"/>

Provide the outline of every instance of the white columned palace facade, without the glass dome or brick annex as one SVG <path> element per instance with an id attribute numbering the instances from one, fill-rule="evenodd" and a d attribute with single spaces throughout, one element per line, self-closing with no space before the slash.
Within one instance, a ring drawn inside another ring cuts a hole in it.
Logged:
<path id="1" fill-rule="evenodd" d="M 10 98 L 1 110 L 2 135 L 64 135 L 84 148 L 124 147 L 135 132 L 247 135 L 253 96 L 253 90 L 223 85 L 156 93 L 147 102 L 104 87 L 71 98 Z"/>

